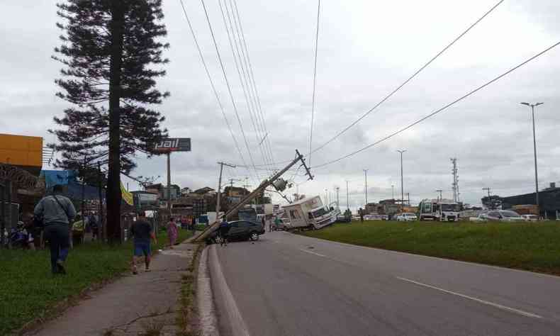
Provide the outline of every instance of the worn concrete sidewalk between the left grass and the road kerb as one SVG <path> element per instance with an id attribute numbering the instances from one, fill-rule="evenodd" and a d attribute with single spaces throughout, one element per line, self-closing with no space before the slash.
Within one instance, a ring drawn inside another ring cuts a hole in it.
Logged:
<path id="1" fill-rule="evenodd" d="M 196 245 L 183 243 L 152 258 L 145 272 L 127 274 L 89 293 L 89 297 L 27 335 L 139 335 L 159 328 L 158 335 L 175 335 L 181 276 L 188 274 Z"/>

